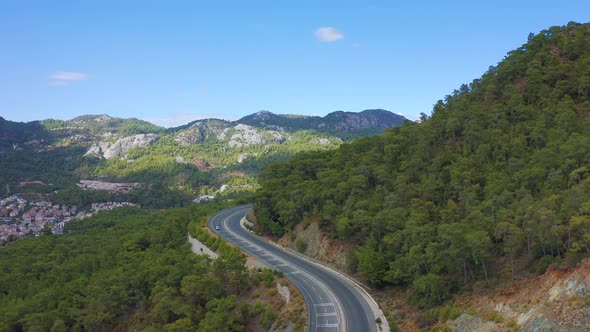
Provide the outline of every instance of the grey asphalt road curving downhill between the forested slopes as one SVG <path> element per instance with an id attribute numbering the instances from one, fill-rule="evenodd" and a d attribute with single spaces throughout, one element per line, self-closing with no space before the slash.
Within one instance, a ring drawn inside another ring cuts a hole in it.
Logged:
<path id="1" fill-rule="evenodd" d="M 242 205 L 223 210 L 209 219 L 209 228 L 269 267 L 283 272 L 295 284 L 308 308 L 308 331 L 378 331 L 368 295 L 359 286 L 241 227 L 240 220 L 251 207 Z"/>

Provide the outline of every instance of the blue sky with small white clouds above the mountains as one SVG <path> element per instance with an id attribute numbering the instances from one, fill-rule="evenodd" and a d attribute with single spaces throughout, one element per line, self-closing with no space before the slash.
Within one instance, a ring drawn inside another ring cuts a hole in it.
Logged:
<path id="1" fill-rule="evenodd" d="M 590 1 L 0 1 L 0 116 L 410 119 Z"/>

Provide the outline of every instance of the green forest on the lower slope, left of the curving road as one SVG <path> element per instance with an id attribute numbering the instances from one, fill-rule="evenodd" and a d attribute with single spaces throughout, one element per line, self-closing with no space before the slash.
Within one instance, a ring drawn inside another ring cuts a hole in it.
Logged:
<path id="1" fill-rule="evenodd" d="M 67 235 L 24 239 L 2 248 L 0 330 L 270 327 L 278 308 L 240 296 L 252 287 L 273 290 L 273 272 L 247 272 L 239 249 L 224 243 L 217 245 L 221 257 L 216 260 L 189 249 L 189 222 L 194 228 L 218 209 L 121 208 L 72 221 Z M 249 325 L 253 322 L 258 325 Z"/>

